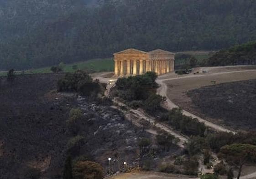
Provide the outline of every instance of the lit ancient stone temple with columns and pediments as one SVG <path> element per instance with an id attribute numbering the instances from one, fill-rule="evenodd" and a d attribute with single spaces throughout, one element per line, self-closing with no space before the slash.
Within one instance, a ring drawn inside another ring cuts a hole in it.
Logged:
<path id="1" fill-rule="evenodd" d="M 115 76 L 131 76 L 156 72 L 158 75 L 174 71 L 175 54 L 170 51 L 140 51 L 127 49 L 114 53 Z"/>

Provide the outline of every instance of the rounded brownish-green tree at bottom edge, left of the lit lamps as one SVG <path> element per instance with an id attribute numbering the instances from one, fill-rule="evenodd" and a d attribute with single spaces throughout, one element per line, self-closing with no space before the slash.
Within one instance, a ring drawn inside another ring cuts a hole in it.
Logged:
<path id="1" fill-rule="evenodd" d="M 74 179 L 103 179 L 103 167 L 91 161 L 78 161 L 73 168 Z"/>

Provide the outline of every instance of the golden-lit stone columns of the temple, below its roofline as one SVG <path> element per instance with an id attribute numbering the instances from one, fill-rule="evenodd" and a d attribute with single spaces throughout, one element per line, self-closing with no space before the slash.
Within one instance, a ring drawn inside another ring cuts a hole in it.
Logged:
<path id="1" fill-rule="evenodd" d="M 173 60 L 115 60 L 115 75 L 141 75 L 145 72 L 164 74 L 174 69 Z"/>

